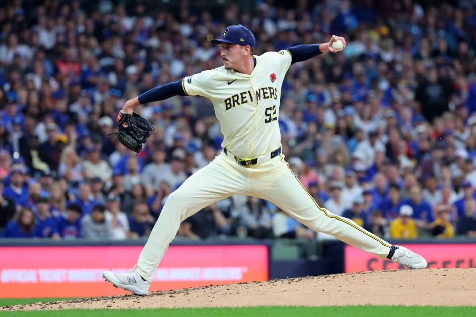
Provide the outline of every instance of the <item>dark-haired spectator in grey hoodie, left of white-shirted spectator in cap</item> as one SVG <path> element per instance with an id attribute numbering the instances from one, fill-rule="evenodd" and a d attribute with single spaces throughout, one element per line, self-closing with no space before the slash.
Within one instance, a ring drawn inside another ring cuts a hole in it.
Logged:
<path id="1" fill-rule="evenodd" d="M 111 223 L 106 220 L 103 205 L 95 205 L 93 210 L 81 218 L 81 236 L 86 239 L 111 239 Z"/>

